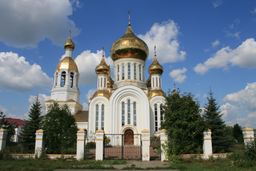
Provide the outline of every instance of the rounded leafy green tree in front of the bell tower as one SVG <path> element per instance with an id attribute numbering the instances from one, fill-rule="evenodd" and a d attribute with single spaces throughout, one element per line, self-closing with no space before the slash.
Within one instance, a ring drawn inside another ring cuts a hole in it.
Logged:
<path id="1" fill-rule="evenodd" d="M 45 130 L 45 146 L 53 153 L 62 153 L 76 142 L 77 125 L 67 104 L 53 102 L 47 108 L 42 121 Z"/>

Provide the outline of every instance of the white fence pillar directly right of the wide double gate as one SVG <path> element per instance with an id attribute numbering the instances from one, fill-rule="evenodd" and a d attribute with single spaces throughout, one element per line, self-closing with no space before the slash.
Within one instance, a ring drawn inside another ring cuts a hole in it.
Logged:
<path id="1" fill-rule="evenodd" d="M 150 138 L 149 138 L 149 130 L 143 129 L 141 131 L 141 141 L 142 141 L 142 161 L 149 161 L 150 159 Z"/>

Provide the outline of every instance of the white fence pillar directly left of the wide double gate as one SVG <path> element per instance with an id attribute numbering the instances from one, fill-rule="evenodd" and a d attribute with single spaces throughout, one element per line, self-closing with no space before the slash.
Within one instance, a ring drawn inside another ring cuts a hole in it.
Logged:
<path id="1" fill-rule="evenodd" d="M 104 131 L 98 129 L 96 131 L 96 156 L 95 160 L 103 160 L 103 141 L 104 141 Z"/>

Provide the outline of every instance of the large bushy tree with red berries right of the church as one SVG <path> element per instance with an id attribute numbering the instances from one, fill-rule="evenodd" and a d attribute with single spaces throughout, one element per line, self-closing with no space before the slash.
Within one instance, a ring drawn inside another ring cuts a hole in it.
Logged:
<path id="1" fill-rule="evenodd" d="M 195 152 L 202 145 L 203 132 L 208 129 L 200 115 L 199 101 L 191 93 L 181 95 L 179 90 L 169 90 L 163 111 L 161 129 L 166 129 L 168 135 L 167 154 Z"/>

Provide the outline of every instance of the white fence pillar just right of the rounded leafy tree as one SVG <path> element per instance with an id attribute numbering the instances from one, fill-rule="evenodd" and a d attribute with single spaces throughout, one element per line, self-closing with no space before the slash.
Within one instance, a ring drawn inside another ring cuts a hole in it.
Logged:
<path id="1" fill-rule="evenodd" d="M 81 160 L 81 159 L 84 159 L 85 131 L 84 130 L 77 131 L 76 136 L 77 136 L 76 159 Z"/>

